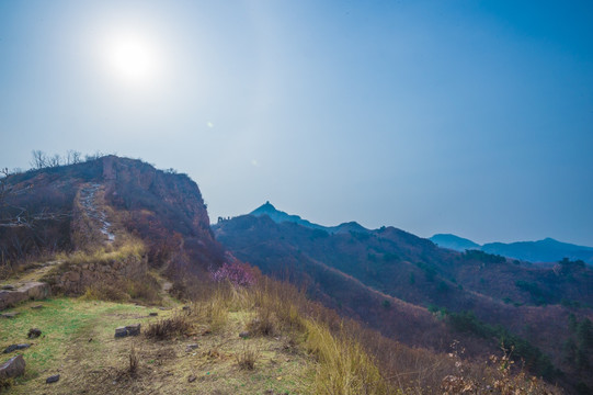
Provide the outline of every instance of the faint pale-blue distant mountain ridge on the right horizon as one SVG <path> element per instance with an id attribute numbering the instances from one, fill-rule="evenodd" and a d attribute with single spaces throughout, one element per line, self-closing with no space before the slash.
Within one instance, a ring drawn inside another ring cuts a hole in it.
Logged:
<path id="1" fill-rule="evenodd" d="M 593 264 L 593 247 L 561 242 L 549 237 L 538 241 L 517 241 L 510 244 L 488 242 L 483 246 L 469 239 L 448 234 L 434 235 L 430 240 L 438 247 L 461 252 L 467 249 L 478 249 L 488 253 L 529 262 L 559 262 L 562 259 L 568 258 L 571 260 L 582 260 L 585 263 Z"/>

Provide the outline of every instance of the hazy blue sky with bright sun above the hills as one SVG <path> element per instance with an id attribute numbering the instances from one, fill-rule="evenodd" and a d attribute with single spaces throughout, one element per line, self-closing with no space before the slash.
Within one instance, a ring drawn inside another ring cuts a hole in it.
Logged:
<path id="1" fill-rule="evenodd" d="M 593 2 L 0 1 L 0 166 L 175 168 L 277 208 L 593 245 Z"/>

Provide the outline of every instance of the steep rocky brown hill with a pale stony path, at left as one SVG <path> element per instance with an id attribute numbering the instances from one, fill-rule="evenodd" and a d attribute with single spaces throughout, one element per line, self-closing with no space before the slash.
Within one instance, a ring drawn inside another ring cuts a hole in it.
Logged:
<path id="1" fill-rule="evenodd" d="M 180 268 L 206 271 L 225 260 L 199 189 L 185 174 L 106 156 L 11 174 L 2 184 L 0 268 L 56 251 L 92 249 L 110 237 L 98 223 L 139 237 L 149 266 L 171 267 L 171 275 Z"/>

